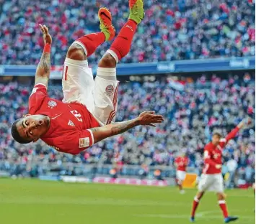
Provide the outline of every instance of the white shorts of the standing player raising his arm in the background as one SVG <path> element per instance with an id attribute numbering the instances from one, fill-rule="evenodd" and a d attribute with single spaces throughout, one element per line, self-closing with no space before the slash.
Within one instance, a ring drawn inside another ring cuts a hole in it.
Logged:
<path id="1" fill-rule="evenodd" d="M 198 184 L 200 192 L 224 192 L 224 179 L 222 174 L 202 174 Z"/>

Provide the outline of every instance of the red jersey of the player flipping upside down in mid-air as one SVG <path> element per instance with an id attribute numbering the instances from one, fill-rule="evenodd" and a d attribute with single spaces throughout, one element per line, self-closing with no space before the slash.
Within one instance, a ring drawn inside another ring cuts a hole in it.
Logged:
<path id="1" fill-rule="evenodd" d="M 80 103 L 63 103 L 49 98 L 45 85 L 37 84 L 29 99 L 29 113 L 50 118 L 50 129 L 41 139 L 54 149 L 79 154 L 94 144 L 92 129 L 100 126 Z"/>

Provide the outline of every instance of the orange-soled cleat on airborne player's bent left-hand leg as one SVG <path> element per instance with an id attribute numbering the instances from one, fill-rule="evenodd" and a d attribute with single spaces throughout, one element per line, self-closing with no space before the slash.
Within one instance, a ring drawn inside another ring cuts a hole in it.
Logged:
<path id="1" fill-rule="evenodd" d="M 112 25 L 112 16 L 107 8 L 100 8 L 98 12 L 100 19 L 100 30 L 105 34 L 106 40 L 111 40 L 115 37 L 115 28 Z"/>

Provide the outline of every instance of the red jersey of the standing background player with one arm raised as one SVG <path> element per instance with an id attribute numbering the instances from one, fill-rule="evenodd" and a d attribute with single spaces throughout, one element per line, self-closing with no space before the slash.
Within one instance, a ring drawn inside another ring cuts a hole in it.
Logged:
<path id="1" fill-rule="evenodd" d="M 221 139 L 219 145 L 215 146 L 211 142 L 206 144 L 204 149 L 204 167 L 203 173 L 204 174 L 219 174 L 221 173 L 221 169 L 217 169 L 215 166 L 217 164 L 222 164 L 222 150 L 229 142 L 230 139 L 233 139 L 239 128 L 233 129 L 224 139 Z"/>

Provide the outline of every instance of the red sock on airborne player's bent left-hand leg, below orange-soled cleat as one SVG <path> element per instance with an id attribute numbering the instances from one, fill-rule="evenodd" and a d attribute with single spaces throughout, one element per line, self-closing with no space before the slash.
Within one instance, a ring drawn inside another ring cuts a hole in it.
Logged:
<path id="1" fill-rule="evenodd" d="M 105 34 L 102 32 L 87 34 L 84 37 L 76 39 L 76 41 L 79 41 L 84 45 L 87 49 L 87 57 L 89 57 L 95 52 L 97 47 L 105 42 Z"/>

